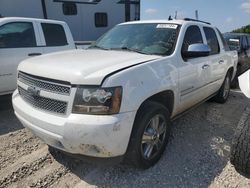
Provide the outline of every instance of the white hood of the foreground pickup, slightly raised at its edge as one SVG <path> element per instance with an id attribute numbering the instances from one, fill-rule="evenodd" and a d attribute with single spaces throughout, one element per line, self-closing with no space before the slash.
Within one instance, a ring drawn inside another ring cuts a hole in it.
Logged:
<path id="1" fill-rule="evenodd" d="M 70 50 L 24 60 L 18 70 L 76 85 L 100 85 L 113 72 L 160 57 L 128 51 Z"/>

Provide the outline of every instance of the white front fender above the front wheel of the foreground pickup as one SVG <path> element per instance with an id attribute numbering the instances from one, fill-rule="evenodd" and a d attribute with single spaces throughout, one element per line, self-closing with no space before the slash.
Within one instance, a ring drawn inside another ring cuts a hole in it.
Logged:
<path id="1" fill-rule="evenodd" d="M 120 110 L 123 113 L 137 111 L 145 100 L 162 91 L 171 90 L 176 95 L 177 80 L 178 71 L 175 62 L 164 58 L 118 72 L 108 77 L 103 87 L 123 87 Z"/>

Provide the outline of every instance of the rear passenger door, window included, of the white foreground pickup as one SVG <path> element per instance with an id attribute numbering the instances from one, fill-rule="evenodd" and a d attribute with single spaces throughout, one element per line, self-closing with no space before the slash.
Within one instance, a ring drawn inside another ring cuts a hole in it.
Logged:
<path id="1" fill-rule="evenodd" d="M 210 69 L 208 70 L 208 92 L 214 93 L 219 90 L 227 72 L 227 55 L 225 49 L 220 48 L 220 43 L 217 36 L 217 31 L 212 27 L 203 27 L 206 42 L 209 45 L 211 52 L 207 60 L 209 61 Z"/>

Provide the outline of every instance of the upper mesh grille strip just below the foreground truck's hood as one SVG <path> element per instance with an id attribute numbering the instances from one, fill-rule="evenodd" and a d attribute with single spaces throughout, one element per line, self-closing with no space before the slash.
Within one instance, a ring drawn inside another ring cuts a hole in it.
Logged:
<path id="1" fill-rule="evenodd" d="M 19 72 L 18 80 L 32 87 L 38 87 L 45 91 L 58 93 L 62 95 L 70 95 L 70 86 L 60 85 L 54 81 L 47 81 L 45 79 L 40 79 L 32 75 Z"/>

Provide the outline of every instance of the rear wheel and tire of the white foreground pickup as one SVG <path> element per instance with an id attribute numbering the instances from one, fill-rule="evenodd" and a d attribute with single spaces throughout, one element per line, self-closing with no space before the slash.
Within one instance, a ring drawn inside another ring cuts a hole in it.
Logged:
<path id="1" fill-rule="evenodd" d="M 219 89 L 217 95 L 213 98 L 213 100 L 217 103 L 224 104 L 227 101 L 230 94 L 230 85 L 231 85 L 231 75 L 228 72 L 221 88 Z"/>

